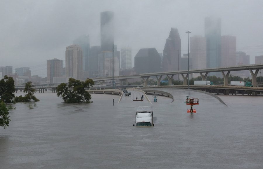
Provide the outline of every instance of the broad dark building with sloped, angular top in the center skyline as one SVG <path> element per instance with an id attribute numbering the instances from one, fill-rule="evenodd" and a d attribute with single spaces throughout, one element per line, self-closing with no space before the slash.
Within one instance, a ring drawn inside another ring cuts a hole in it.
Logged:
<path id="1" fill-rule="evenodd" d="M 161 57 L 155 48 L 140 49 L 134 57 L 137 74 L 160 72 Z"/>

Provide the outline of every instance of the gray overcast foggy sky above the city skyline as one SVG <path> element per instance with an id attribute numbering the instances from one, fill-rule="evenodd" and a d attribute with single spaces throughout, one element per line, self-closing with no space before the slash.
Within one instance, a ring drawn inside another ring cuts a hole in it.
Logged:
<path id="1" fill-rule="evenodd" d="M 46 60 L 65 60 L 65 48 L 89 34 L 100 45 L 100 12 L 115 13 L 117 49 L 155 47 L 163 53 L 171 27 L 177 27 L 182 54 L 187 34 L 204 36 L 205 17 L 222 19 L 222 35 L 236 36 L 237 51 L 263 55 L 262 0 L 1 0 L 0 66 L 30 67 L 46 77 Z M 133 60 L 134 62 L 134 60 Z M 65 66 L 65 65 L 64 65 Z"/>

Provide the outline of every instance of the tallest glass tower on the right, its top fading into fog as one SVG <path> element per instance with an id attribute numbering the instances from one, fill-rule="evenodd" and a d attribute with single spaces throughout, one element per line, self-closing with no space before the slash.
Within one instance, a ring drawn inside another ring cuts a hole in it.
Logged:
<path id="1" fill-rule="evenodd" d="M 205 18 L 207 68 L 221 67 L 221 18 Z"/>

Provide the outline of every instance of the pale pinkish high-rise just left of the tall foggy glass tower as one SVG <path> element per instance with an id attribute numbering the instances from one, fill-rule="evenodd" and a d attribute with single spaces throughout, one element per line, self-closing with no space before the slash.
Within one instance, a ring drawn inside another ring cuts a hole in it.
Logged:
<path id="1" fill-rule="evenodd" d="M 192 69 L 206 69 L 206 39 L 203 36 L 190 37 Z"/>

